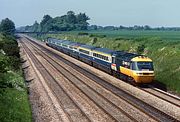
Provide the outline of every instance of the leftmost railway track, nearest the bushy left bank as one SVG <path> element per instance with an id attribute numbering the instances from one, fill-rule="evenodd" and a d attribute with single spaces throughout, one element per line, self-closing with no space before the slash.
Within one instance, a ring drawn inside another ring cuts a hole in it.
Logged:
<path id="1" fill-rule="evenodd" d="M 66 117 L 68 118 L 69 121 L 89 121 L 89 119 L 85 116 L 83 116 L 82 111 L 80 108 L 78 108 L 78 106 L 76 106 L 76 104 L 74 104 L 74 101 L 71 99 L 71 97 L 69 97 L 67 95 L 67 93 L 58 85 L 58 83 L 56 82 L 56 80 L 53 78 L 53 76 L 51 76 L 49 74 L 49 72 L 45 69 L 45 67 L 39 62 L 39 60 L 37 60 L 37 58 L 34 56 L 34 54 L 31 52 L 31 50 L 23 43 L 21 42 L 23 47 L 25 47 L 25 51 L 26 53 L 29 55 L 29 57 L 33 60 L 35 66 L 38 68 L 38 70 L 40 71 L 41 75 L 43 76 L 43 78 L 49 86 L 49 88 L 51 89 L 51 92 L 53 93 L 53 95 L 58 99 L 59 104 L 61 105 L 61 107 L 63 108 L 63 110 L 65 110 L 66 113 Z M 53 82 L 51 82 L 53 81 Z M 65 100 L 65 101 L 63 101 Z M 73 103 L 73 104 L 72 104 Z M 62 105 L 63 104 L 63 105 Z M 67 109 L 65 109 L 65 107 L 71 105 L 71 109 L 76 110 L 76 116 L 72 117 L 72 113 L 70 113 L 70 111 L 66 111 Z M 78 115 L 80 114 L 80 115 Z M 81 118 L 79 118 L 81 117 Z"/>

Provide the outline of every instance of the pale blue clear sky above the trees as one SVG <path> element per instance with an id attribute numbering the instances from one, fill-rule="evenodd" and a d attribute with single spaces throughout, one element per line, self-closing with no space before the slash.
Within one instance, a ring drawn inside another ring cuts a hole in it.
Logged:
<path id="1" fill-rule="evenodd" d="M 0 21 L 20 27 L 69 10 L 86 13 L 90 25 L 180 27 L 180 0 L 0 0 Z"/>

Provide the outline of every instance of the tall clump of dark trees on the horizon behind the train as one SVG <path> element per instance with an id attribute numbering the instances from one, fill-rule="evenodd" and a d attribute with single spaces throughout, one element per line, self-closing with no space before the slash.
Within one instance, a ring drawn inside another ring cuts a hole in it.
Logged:
<path id="1" fill-rule="evenodd" d="M 85 13 L 75 15 L 73 11 L 68 11 L 66 15 L 52 18 L 50 15 L 45 15 L 42 21 L 35 23 L 32 26 L 20 28 L 21 32 L 57 32 L 71 30 L 87 30 L 89 17 Z"/>

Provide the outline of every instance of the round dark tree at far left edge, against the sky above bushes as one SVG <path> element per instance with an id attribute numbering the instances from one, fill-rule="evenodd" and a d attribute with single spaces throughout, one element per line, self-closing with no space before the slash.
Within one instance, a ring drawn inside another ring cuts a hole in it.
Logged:
<path id="1" fill-rule="evenodd" d="M 12 35 L 15 32 L 15 24 L 13 21 L 6 18 L 1 21 L 0 30 L 3 34 Z"/>

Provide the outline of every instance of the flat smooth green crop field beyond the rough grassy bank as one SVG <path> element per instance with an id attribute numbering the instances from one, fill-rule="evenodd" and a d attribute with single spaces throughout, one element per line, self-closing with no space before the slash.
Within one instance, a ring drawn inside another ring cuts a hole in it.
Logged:
<path id="1" fill-rule="evenodd" d="M 80 31 L 82 32 L 82 31 Z M 157 30 L 98 30 L 98 31 L 83 31 L 89 34 L 101 34 L 107 37 L 122 37 L 122 38 L 143 38 L 143 37 L 158 37 L 163 40 L 180 40 L 180 31 L 157 31 Z M 64 34 L 77 35 L 79 31 L 64 32 Z"/>

